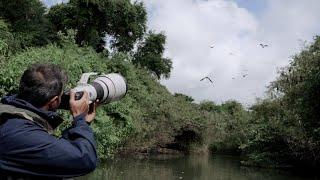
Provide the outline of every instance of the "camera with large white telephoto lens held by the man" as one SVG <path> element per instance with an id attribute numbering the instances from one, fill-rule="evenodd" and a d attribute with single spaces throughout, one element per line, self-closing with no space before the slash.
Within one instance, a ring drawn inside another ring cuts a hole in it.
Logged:
<path id="1" fill-rule="evenodd" d="M 88 83 L 90 76 L 97 73 L 83 73 L 77 86 L 72 89 L 76 93 L 76 100 L 81 99 L 83 92 L 88 92 L 90 103 L 99 100 L 99 103 L 110 103 L 120 100 L 127 93 L 127 84 L 123 76 L 118 73 L 101 74 L 91 84 Z M 70 91 L 64 91 L 59 109 L 70 109 Z"/>

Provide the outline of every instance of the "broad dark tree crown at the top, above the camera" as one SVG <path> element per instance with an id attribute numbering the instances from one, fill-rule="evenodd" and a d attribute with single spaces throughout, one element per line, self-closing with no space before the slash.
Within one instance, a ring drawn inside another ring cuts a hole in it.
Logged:
<path id="1" fill-rule="evenodd" d="M 47 16 L 56 31 L 77 31 L 78 45 L 104 50 L 106 39 L 118 51 L 130 51 L 146 29 L 147 13 L 142 2 L 130 0 L 70 0 L 51 7 Z"/>

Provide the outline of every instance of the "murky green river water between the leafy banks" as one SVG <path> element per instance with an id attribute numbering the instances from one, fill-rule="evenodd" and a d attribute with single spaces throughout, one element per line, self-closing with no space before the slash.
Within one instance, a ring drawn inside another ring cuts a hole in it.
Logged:
<path id="1" fill-rule="evenodd" d="M 302 180 L 318 179 L 293 174 L 290 171 L 249 168 L 240 166 L 239 158 L 234 156 L 157 156 L 140 158 L 138 156 L 114 160 L 101 164 L 93 173 L 77 180 L 92 179 L 130 179 L 130 180 Z"/>

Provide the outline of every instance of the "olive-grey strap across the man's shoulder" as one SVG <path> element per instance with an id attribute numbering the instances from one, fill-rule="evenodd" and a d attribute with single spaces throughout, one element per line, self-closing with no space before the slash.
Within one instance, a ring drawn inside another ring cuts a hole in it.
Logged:
<path id="1" fill-rule="evenodd" d="M 47 120 L 38 114 L 23 108 L 17 108 L 13 105 L 0 103 L 0 124 L 12 117 L 22 118 L 36 123 L 38 126 L 46 130 L 49 134 L 53 133 L 53 128 Z"/>

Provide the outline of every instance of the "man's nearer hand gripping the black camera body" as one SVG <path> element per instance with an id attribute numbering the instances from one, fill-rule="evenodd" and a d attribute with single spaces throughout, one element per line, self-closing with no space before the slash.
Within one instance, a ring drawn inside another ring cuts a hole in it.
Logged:
<path id="1" fill-rule="evenodd" d="M 87 116 L 89 112 L 89 96 L 86 91 L 83 92 L 81 99 L 76 100 L 76 93 L 74 91 L 70 91 L 70 111 L 73 117 L 77 117 L 80 114 L 84 114 Z"/>

